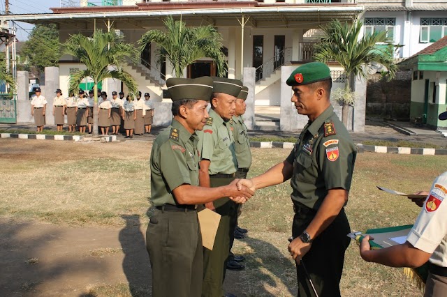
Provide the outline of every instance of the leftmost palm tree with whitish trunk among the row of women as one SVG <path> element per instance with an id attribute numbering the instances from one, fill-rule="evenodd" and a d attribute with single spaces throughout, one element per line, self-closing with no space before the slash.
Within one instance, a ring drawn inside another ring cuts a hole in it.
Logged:
<path id="1" fill-rule="evenodd" d="M 127 59 L 135 61 L 138 50 L 131 44 L 123 43 L 115 32 L 96 30 L 92 37 L 82 34 L 70 36 L 64 43 L 66 54 L 78 57 L 87 66 L 71 74 L 69 93 L 78 93 L 82 79 L 91 77 L 94 81 L 93 133 L 98 136 L 98 83 L 106 78 L 119 79 L 130 93 L 136 93 L 135 79 L 122 69 Z"/>

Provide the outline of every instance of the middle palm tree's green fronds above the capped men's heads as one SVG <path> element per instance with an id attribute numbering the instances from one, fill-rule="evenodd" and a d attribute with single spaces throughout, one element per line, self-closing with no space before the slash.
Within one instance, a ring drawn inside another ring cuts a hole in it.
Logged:
<path id="1" fill-rule="evenodd" d="M 214 26 L 187 27 L 184 22 L 175 21 L 169 16 L 164 21 L 166 31 L 150 30 L 138 40 L 140 51 L 149 43 L 157 43 L 157 64 L 170 61 L 174 66 L 175 77 L 182 77 L 183 70 L 197 59 L 213 59 L 219 76 L 226 74 L 227 63 L 221 51 L 222 36 Z"/>

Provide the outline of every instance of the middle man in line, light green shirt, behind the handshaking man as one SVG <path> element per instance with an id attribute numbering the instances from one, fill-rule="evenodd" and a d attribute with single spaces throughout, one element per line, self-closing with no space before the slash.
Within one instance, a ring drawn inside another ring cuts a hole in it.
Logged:
<path id="1" fill-rule="evenodd" d="M 235 142 L 230 119 L 235 114 L 235 100 L 242 89 L 242 82 L 236 79 L 213 77 L 210 118 L 203 132 L 200 132 L 199 182 L 203 187 L 228 185 L 235 179 L 237 160 Z M 223 296 L 223 279 L 226 259 L 230 247 L 230 209 L 232 202 L 222 198 L 205 204 L 221 215 L 213 250 L 203 250 L 203 291 L 202 296 Z"/>

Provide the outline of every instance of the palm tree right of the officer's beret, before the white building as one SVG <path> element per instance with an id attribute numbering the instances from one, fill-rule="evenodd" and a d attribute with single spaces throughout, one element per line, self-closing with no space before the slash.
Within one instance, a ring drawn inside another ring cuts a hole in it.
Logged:
<path id="1" fill-rule="evenodd" d="M 395 77 L 397 66 L 393 61 L 394 47 L 392 40 L 386 37 L 386 31 L 379 31 L 372 35 L 360 36 L 362 22 L 353 24 L 341 23 L 333 20 L 325 26 L 321 26 L 325 38 L 315 45 L 314 59 L 323 63 L 337 61 L 346 74 L 345 91 L 350 93 L 351 84 L 355 77 L 367 78 L 369 70 L 375 63 L 379 63 L 388 69 L 388 80 Z M 380 46 L 376 46 L 381 43 Z M 342 122 L 347 126 L 349 103 L 343 102 Z"/>

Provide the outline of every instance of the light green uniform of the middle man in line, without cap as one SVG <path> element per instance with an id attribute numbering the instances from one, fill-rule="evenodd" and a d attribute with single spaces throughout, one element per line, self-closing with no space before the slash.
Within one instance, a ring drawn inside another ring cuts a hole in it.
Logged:
<path id="1" fill-rule="evenodd" d="M 211 186 L 228 185 L 234 180 L 237 170 L 235 144 L 230 122 L 225 122 L 213 109 L 210 118 L 200 132 L 198 151 L 201 160 L 210 160 L 208 173 Z M 202 296 L 223 296 L 223 278 L 230 247 L 230 211 L 233 202 L 224 197 L 214 201 L 216 212 L 221 215 L 213 250 L 203 249 Z"/>

